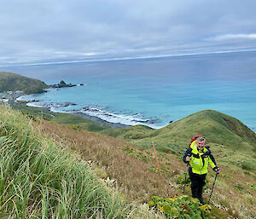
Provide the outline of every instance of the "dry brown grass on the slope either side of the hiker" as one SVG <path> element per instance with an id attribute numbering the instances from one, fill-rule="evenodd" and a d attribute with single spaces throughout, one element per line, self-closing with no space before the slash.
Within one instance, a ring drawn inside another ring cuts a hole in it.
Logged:
<path id="1" fill-rule="evenodd" d="M 69 148 L 79 151 L 81 158 L 95 162 L 111 179 L 116 179 L 119 190 L 122 190 L 129 200 L 143 202 L 148 201 L 152 195 L 172 197 L 175 194 L 182 194 L 182 189 L 177 189 L 175 180 L 176 176 L 183 176 L 185 171 L 185 164 L 181 158 L 170 153 L 158 153 L 161 170 L 165 170 L 165 174 L 160 177 L 155 160 L 152 158 L 153 150 L 141 150 L 129 142 L 107 135 L 72 130 L 67 125 L 46 121 L 41 121 L 39 125 L 45 135 L 55 138 L 56 141 L 65 142 Z M 124 148 L 142 152 L 147 158 L 141 160 L 136 156 L 128 156 Z M 214 153 L 214 149 L 212 151 Z M 222 174 L 218 176 L 214 187 L 212 204 L 235 218 L 248 218 L 255 215 L 256 191 L 252 189 L 252 185 L 255 186 L 255 176 L 248 176 L 241 169 L 234 171 L 224 165 L 220 167 Z M 210 188 L 204 193 L 206 200 L 214 179 L 214 173 L 211 170 L 207 179 Z M 239 190 L 239 186 L 244 189 Z M 190 193 L 189 187 L 186 188 L 186 193 Z"/>

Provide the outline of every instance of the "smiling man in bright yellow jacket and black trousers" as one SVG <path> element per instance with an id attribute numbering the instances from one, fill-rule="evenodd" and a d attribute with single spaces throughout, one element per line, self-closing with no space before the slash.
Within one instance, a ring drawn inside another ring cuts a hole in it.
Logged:
<path id="1" fill-rule="evenodd" d="M 192 197 L 199 199 L 202 205 L 206 202 L 202 199 L 202 188 L 206 184 L 208 164 L 212 170 L 219 174 L 219 168 L 212 156 L 211 151 L 206 147 L 206 139 L 198 137 L 195 141 L 196 147 L 190 147 L 183 156 L 183 162 L 189 163 L 189 178 L 191 180 Z M 213 160 L 212 160 L 213 159 Z"/>

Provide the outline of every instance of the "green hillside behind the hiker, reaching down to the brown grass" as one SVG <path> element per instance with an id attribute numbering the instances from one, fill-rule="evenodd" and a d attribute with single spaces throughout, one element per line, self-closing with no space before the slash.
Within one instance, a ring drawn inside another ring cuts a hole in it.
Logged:
<path id="1" fill-rule="evenodd" d="M 256 134 L 238 119 L 221 112 L 196 112 L 160 130 L 150 130 L 138 125 L 122 130 L 102 130 L 101 133 L 142 148 L 150 148 L 154 141 L 158 151 L 174 153 L 179 157 L 188 147 L 191 137 L 201 134 L 206 136 L 207 144 L 211 146 L 220 164 L 256 172 Z"/>

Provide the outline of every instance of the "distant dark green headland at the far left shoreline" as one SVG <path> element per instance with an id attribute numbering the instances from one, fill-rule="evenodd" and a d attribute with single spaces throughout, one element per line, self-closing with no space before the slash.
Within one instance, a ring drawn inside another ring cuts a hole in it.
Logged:
<path id="1" fill-rule="evenodd" d="M 47 87 L 38 79 L 26 78 L 11 72 L 0 72 L 0 92 L 22 90 L 26 94 L 43 92 Z"/>

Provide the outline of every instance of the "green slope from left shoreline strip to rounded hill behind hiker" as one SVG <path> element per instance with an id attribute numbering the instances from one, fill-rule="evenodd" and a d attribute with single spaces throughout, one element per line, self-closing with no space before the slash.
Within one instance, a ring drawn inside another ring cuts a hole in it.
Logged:
<path id="1" fill-rule="evenodd" d="M 14 104 L 12 107 L 39 118 L 42 118 L 41 112 L 43 112 L 43 118 L 57 124 L 67 124 L 73 130 L 100 132 L 103 135 L 129 141 L 142 148 L 151 148 L 151 141 L 154 141 L 161 152 L 183 154 L 183 149 L 188 147 L 191 137 L 201 134 L 207 137 L 207 143 L 210 146 L 224 145 L 230 153 L 234 150 L 250 156 L 255 156 L 256 153 L 256 135 L 252 130 L 249 130 L 238 119 L 212 110 L 196 112 L 160 130 L 153 130 L 144 125 L 113 129 L 106 124 L 98 124 L 67 113 L 53 113 L 42 108 L 25 107 L 21 104 Z"/>

